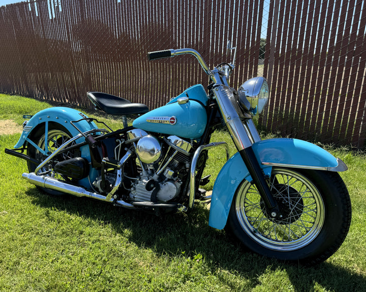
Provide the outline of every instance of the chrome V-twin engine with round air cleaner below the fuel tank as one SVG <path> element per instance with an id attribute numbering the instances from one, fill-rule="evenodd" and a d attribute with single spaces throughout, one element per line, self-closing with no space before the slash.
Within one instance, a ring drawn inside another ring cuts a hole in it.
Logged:
<path id="1" fill-rule="evenodd" d="M 128 132 L 133 142 L 140 175 L 134 179 L 130 198 L 134 201 L 168 202 L 177 198 L 182 178 L 190 168 L 192 145 L 177 137 L 169 136 L 159 140 L 140 129 Z"/>

